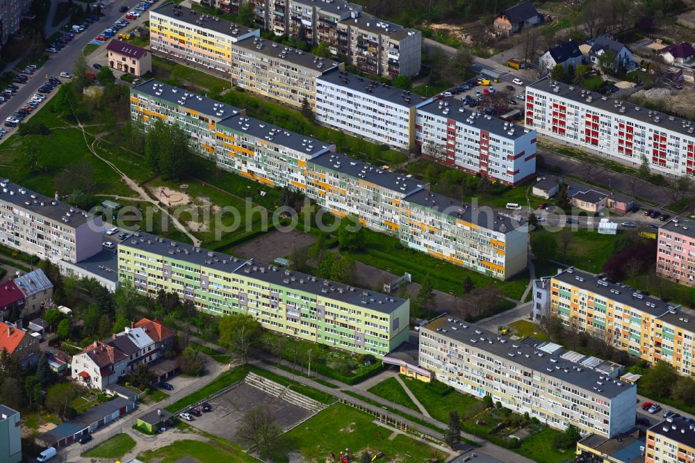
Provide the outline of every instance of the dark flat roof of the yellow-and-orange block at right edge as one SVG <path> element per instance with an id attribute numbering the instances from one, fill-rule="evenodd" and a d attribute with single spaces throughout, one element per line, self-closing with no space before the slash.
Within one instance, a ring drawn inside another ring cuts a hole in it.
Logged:
<path id="1" fill-rule="evenodd" d="M 591 273 L 585 273 L 575 268 L 565 270 L 559 275 L 555 275 L 553 278 L 560 282 L 586 289 L 587 291 L 596 293 L 603 298 L 612 299 L 616 302 L 620 302 L 621 304 L 635 307 L 635 309 L 644 310 L 648 314 L 657 317 L 668 314 L 669 310 L 675 311 L 678 307 L 680 307 L 678 304 L 664 302 L 663 300 L 654 298 L 651 295 L 641 293 L 640 291 L 637 291 L 637 289 L 632 289 L 627 284 L 610 282 L 606 277 L 601 275 L 591 275 Z"/>

